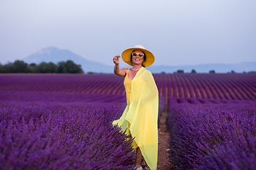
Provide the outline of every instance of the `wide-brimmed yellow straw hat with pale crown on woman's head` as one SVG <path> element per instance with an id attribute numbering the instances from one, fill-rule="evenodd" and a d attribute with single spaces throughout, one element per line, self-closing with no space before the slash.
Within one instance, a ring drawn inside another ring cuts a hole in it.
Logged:
<path id="1" fill-rule="evenodd" d="M 135 45 L 134 47 L 128 48 L 122 52 L 122 60 L 129 65 L 133 65 L 131 62 L 131 55 L 134 50 L 142 50 L 146 55 L 146 62 L 144 62 L 144 67 L 149 67 L 154 63 L 154 55 L 149 50 L 146 50 L 142 45 Z"/>

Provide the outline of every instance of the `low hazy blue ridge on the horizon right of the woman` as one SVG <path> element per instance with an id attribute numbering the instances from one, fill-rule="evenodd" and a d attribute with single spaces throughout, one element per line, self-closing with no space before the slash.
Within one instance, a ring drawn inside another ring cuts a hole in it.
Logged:
<path id="1" fill-rule="evenodd" d="M 208 73 L 210 70 L 214 70 L 216 73 L 228 73 L 232 70 L 234 72 L 251 72 L 256 71 L 256 62 L 242 62 L 238 64 L 198 64 L 198 65 L 179 65 L 179 66 L 154 66 L 148 68 L 152 73 L 173 73 L 178 69 L 182 69 L 184 72 L 191 72 L 195 69 L 198 73 Z"/>

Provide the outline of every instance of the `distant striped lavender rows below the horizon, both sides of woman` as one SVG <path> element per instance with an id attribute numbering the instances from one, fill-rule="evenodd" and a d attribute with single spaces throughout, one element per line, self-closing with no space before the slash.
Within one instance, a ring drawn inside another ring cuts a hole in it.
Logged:
<path id="1" fill-rule="evenodd" d="M 3 91 L 50 91 L 124 95 L 114 74 L 0 75 Z M 213 100 L 256 100 L 256 74 L 154 74 L 159 96 Z"/>

